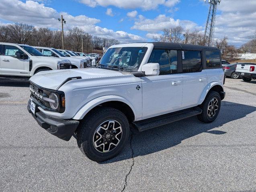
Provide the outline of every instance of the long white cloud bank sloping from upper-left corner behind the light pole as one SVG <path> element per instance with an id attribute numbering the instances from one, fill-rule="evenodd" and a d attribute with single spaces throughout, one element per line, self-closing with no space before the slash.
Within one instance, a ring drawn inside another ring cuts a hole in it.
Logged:
<path id="1" fill-rule="evenodd" d="M 68 28 L 76 26 L 92 35 L 115 38 L 120 42 L 145 41 L 141 36 L 96 26 L 95 24 L 100 22 L 96 18 L 89 18 L 85 15 L 72 16 L 66 12 L 57 12 L 53 8 L 46 7 L 44 4 L 31 0 L 27 0 L 26 2 L 20 0 L 1 0 L 0 10 L 0 18 L 8 22 L 23 22 L 36 27 L 60 29 L 61 24 L 57 19 L 63 14 L 63 18 L 67 22 L 64 29 L 66 26 Z"/>

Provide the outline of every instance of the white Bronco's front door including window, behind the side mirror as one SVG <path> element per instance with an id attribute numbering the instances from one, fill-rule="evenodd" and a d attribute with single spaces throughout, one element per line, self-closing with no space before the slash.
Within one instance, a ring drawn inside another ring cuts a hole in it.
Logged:
<path id="1" fill-rule="evenodd" d="M 182 102 L 182 74 L 178 73 L 177 50 L 154 49 L 148 61 L 159 63 L 158 76 L 141 77 L 142 117 L 150 118 L 178 110 Z"/>

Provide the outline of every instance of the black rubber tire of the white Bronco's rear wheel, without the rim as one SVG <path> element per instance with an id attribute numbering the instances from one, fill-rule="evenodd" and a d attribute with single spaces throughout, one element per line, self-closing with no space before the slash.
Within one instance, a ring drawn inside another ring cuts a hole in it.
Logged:
<path id="1" fill-rule="evenodd" d="M 212 100 L 213 98 L 216 98 L 217 101 L 218 101 L 218 109 L 217 109 L 217 111 L 215 112 L 215 115 L 214 115 L 213 117 L 209 117 L 207 111 L 208 111 L 209 103 L 211 102 L 211 100 Z M 202 113 L 199 114 L 199 115 L 197 115 L 197 118 L 198 118 L 200 121 L 205 122 L 205 123 L 211 123 L 211 122 L 213 122 L 213 121 L 217 118 L 217 116 L 218 116 L 218 114 L 219 114 L 219 110 L 220 110 L 220 108 L 221 108 L 221 97 L 219 96 L 219 93 L 216 92 L 216 91 L 210 91 L 210 92 L 207 94 L 207 96 L 206 96 L 204 102 L 201 104 L 200 107 L 201 107 L 201 109 L 202 109 Z"/>

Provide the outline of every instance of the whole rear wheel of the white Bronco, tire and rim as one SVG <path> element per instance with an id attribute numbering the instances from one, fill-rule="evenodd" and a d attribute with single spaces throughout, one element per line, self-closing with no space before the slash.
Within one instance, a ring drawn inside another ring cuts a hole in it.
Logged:
<path id="1" fill-rule="evenodd" d="M 210 91 L 204 102 L 201 104 L 202 113 L 198 115 L 198 119 L 205 123 L 213 122 L 221 108 L 221 98 L 216 91 Z"/>

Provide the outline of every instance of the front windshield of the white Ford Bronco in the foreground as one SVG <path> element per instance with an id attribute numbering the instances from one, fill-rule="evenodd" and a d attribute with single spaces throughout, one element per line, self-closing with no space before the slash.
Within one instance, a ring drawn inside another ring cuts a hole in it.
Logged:
<path id="1" fill-rule="evenodd" d="M 109 48 L 100 60 L 101 68 L 137 71 L 147 51 L 146 47 Z"/>

